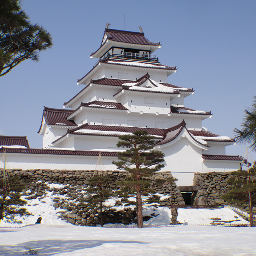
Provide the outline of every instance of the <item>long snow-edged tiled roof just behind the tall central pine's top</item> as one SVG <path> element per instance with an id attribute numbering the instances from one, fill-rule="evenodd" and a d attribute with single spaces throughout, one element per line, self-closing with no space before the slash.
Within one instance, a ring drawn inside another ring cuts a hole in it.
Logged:
<path id="1" fill-rule="evenodd" d="M 160 128 L 145 128 L 145 127 L 132 127 L 132 126 L 112 126 L 112 125 L 96 125 L 96 124 L 83 124 L 77 128 L 68 130 L 70 134 L 77 134 L 79 130 L 99 130 L 106 132 L 136 132 L 146 131 L 150 135 L 164 136 L 164 130 Z M 74 133 L 76 132 L 76 133 Z"/>

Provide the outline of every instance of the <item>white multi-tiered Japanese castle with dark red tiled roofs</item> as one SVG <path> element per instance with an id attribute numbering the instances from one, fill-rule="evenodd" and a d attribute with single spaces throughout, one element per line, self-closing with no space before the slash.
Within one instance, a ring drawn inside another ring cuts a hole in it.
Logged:
<path id="1" fill-rule="evenodd" d="M 26 137 L 0 136 L 0 157 L 5 152 L 9 168 L 94 170 L 100 154 L 105 169 L 116 170 L 118 136 L 145 130 L 165 154 L 162 171 L 179 185 L 192 185 L 195 172 L 237 170 L 242 157 L 225 154 L 234 139 L 202 126 L 212 113 L 186 106 L 194 89 L 167 81 L 177 68 L 160 63 L 159 48 L 141 27 L 130 32 L 107 24 L 90 56 L 98 62 L 77 81 L 82 90 L 64 108 L 44 107 L 42 149 L 30 148 Z"/>

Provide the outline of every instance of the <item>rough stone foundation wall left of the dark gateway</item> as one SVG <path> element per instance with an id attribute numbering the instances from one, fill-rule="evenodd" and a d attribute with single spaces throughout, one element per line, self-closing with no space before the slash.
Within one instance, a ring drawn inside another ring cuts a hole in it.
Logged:
<path id="1" fill-rule="evenodd" d="M 16 176 L 25 185 L 24 195 L 26 199 L 44 200 L 48 191 L 53 193 L 52 205 L 58 209 L 60 218 L 67 220 L 74 225 L 96 225 L 100 222 L 99 212 L 84 206 L 83 197 L 88 186 L 88 181 L 93 175 L 97 175 L 95 170 L 7 170 Z M 116 182 L 123 181 L 128 173 L 120 171 L 105 171 L 109 178 L 114 181 L 114 188 L 119 188 Z M 2 173 L 2 172 L 1 172 Z M 159 172 L 150 178 L 150 184 L 155 185 L 156 179 L 166 180 L 172 177 L 170 172 Z M 62 186 L 52 186 L 50 184 L 60 184 Z M 172 204 L 184 205 L 184 200 L 180 190 L 176 187 L 175 182 L 163 185 L 162 188 L 156 189 L 159 194 L 170 195 L 169 198 L 161 201 L 161 206 L 171 208 Z M 115 206 L 122 205 L 117 201 Z M 103 214 L 104 223 L 123 223 L 130 224 L 134 222 L 136 212 L 126 207 L 124 210 L 116 211 L 107 209 Z"/>

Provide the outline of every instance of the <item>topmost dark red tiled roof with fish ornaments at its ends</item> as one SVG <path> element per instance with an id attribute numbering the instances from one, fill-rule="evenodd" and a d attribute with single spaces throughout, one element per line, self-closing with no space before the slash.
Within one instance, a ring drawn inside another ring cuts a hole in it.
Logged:
<path id="1" fill-rule="evenodd" d="M 108 40 L 115 42 L 123 42 L 129 44 L 143 44 L 143 45 L 160 45 L 160 42 L 151 42 L 145 36 L 144 33 L 132 32 L 116 29 L 105 29 L 105 34 L 108 36 Z"/>

